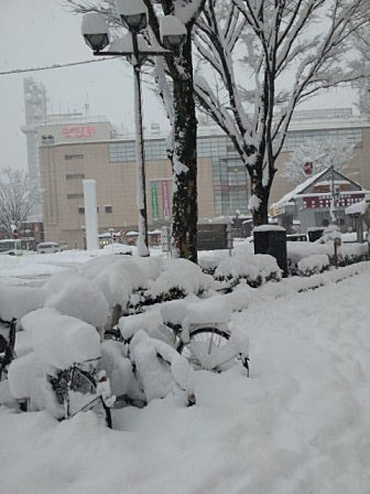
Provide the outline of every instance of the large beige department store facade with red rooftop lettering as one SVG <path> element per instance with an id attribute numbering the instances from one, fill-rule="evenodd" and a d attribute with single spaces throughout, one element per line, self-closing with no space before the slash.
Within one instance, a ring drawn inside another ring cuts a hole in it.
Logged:
<path id="1" fill-rule="evenodd" d="M 278 161 L 282 169 L 291 152 L 304 140 L 341 139 L 353 142 L 355 157 L 347 175 L 370 190 L 370 124 L 338 111 L 328 118 L 309 115 L 292 122 Z M 97 182 L 99 233 L 138 228 L 135 142 L 115 133 L 104 118 L 55 121 L 37 129 L 41 180 L 44 192 L 44 237 L 84 247 L 85 211 L 83 180 Z M 250 182 L 232 142 L 218 129 L 199 127 L 199 218 L 248 215 Z M 168 225 L 172 210 L 172 172 L 166 139 L 148 137 L 144 143 L 149 228 Z M 276 173 L 271 202 L 292 185 Z"/>

